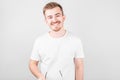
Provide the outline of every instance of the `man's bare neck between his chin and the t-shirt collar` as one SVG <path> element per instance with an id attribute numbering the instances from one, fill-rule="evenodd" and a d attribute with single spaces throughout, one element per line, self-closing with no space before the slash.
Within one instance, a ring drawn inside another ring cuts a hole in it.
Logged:
<path id="1" fill-rule="evenodd" d="M 66 33 L 66 30 L 64 28 L 62 28 L 61 30 L 59 31 L 50 31 L 49 34 L 51 37 L 54 37 L 54 38 L 60 38 L 60 37 L 63 37 Z"/>

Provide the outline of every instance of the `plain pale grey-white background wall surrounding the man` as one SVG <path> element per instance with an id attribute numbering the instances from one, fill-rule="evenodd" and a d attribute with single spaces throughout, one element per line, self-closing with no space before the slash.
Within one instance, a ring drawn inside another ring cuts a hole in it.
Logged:
<path id="1" fill-rule="evenodd" d="M 0 80 L 35 79 L 28 62 L 34 40 L 49 30 L 42 14 L 48 1 L 0 0 Z M 56 1 L 65 27 L 82 40 L 85 80 L 120 80 L 120 1 Z"/>

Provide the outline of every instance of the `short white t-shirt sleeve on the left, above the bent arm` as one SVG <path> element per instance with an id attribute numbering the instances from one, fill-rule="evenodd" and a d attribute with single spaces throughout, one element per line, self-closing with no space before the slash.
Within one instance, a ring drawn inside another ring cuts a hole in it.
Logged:
<path id="1" fill-rule="evenodd" d="M 32 53 L 31 53 L 30 59 L 36 60 L 36 61 L 39 61 L 39 60 L 40 60 L 38 48 L 39 48 L 39 43 L 38 43 L 38 41 L 36 40 L 36 41 L 34 42 L 34 44 L 33 44 L 33 49 L 32 49 Z"/>

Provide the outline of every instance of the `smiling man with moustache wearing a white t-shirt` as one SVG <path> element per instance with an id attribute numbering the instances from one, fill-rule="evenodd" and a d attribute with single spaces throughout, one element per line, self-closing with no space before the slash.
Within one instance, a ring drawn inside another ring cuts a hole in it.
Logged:
<path id="1" fill-rule="evenodd" d="M 51 31 L 36 39 L 30 71 L 38 80 L 83 80 L 82 44 L 64 28 L 62 6 L 50 2 L 43 8 L 43 14 Z"/>

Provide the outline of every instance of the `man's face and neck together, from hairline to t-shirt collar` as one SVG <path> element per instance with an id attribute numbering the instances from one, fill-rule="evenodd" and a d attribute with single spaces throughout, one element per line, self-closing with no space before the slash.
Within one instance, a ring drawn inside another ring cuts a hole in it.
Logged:
<path id="1" fill-rule="evenodd" d="M 63 27 L 64 20 L 65 16 L 62 14 L 59 7 L 46 10 L 45 22 L 51 29 L 51 31 L 49 32 L 50 36 L 55 38 L 64 36 L 65 34 L 65 29 Z"/>

